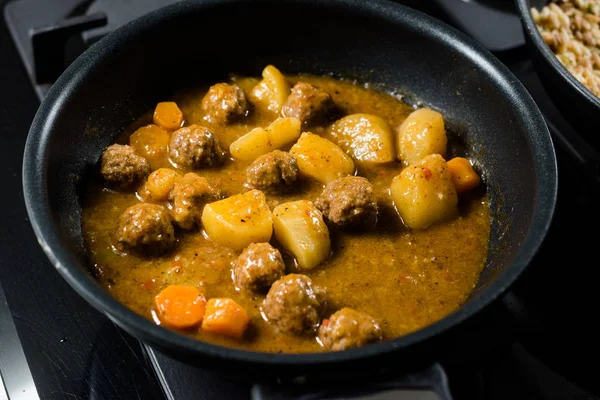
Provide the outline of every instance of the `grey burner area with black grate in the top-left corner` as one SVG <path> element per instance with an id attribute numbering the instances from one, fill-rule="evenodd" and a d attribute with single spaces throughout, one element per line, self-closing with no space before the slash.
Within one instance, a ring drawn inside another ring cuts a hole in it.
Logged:
<path id="1" fill-rule="evenodd" d="M 4 9 L 38 97 L 89 46 L 133 19 L 177 0 L 15 0 Z"/>

